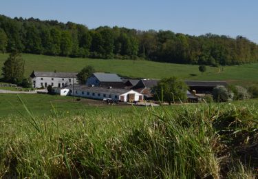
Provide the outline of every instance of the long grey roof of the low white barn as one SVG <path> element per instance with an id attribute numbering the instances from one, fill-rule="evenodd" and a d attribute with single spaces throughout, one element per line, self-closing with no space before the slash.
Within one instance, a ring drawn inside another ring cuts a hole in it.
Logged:
<path id="1" fill-rule="evenodd" d="M 68 89 L 73 89 L 72 85 L 64 87 Z M 131 89 L 120 89 L 120 88 L 107 88 L 107 87 L 89 87 L 87 85 L 74 85 L 74 90 L 79 90 L 81 92 L 95 92 L 101 94 L 125 94 Z"/>

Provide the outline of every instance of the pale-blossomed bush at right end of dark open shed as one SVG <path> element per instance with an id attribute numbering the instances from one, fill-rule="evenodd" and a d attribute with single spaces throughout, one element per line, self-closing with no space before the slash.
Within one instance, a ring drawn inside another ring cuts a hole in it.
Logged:
<path id="1" fill-rule="evenodd" d="M 234 93 L 226 89 L 224 86 L 213 88 L 213 99 L 217 102 L 233 101 Z"/>

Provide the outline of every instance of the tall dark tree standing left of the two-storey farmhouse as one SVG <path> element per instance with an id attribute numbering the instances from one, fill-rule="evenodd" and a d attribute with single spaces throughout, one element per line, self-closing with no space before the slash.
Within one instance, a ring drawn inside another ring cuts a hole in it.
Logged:
<path id="1" fill-rule="evenodd" d="M 3 79 L 6 82 L 19 84 L 23 80 L 24 61 L 21 54 L 12 52 L 2 67 Z"/>

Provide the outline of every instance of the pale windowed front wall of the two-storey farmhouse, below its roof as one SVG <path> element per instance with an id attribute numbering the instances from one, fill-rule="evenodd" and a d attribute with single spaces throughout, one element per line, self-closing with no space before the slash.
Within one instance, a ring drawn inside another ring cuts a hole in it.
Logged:
<path id="1" fill-rule="evenodd" d="M 60 86 L 58 86 L 60 84 Z M 34 77 L 32 78 L 32 86 L 39 87 L 47 87 L 48 85 L 52 85 L 52 87 L 64 87 L 65 85 L 72 85 L 73 78 L 55 78 L 55 77 Z M 76 78 L 74 78 L 74 84 L 78 84 Z"/>

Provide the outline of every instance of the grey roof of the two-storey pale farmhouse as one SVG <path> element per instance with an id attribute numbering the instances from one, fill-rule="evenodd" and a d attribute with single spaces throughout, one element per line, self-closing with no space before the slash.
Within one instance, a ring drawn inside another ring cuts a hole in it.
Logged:
<path id="1" fill-rule="evenodd" d="M 32 72 L 36 77 L 76 78 L 74 72 Z M 31 76 L 32 76 L 31 74 Z"/>

